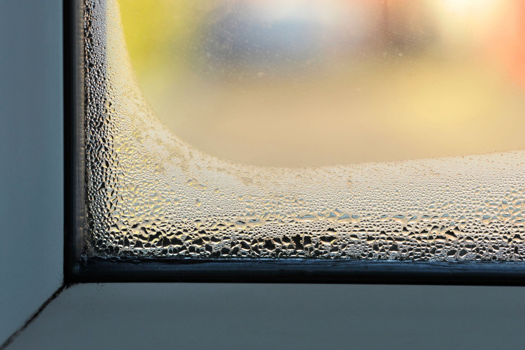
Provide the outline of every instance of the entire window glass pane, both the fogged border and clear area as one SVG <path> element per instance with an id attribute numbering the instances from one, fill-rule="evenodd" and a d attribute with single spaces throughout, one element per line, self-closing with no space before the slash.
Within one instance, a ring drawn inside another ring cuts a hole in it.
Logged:
<path id="1" fill-rule="evenodd" d="M 87 254 L 525 256 L 520 0 L 87 0 L 84 24 Z"/>

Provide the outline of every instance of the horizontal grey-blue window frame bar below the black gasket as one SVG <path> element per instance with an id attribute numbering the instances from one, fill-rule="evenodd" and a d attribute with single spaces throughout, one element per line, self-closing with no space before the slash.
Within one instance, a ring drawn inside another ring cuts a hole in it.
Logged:
<path id="1" fill-rule="evenodd" d="M 83 284 L 18 349 L 511 349 L 525 289 L 304 284 Z"/>

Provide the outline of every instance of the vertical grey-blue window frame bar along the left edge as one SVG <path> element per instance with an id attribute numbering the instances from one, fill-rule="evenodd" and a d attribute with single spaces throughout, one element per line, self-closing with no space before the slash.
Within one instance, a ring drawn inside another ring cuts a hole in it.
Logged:
<path id="1" fill-rule="evenodd" d="M 0 1 L 0 344 L 62 282 L 62 4 Z"/>

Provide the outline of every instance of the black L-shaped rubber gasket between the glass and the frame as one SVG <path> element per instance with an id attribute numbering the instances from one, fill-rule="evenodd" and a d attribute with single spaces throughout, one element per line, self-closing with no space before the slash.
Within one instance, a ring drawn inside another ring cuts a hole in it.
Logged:
<path id="1" fill-rule="evenodd" d="M 83 282 L 525 285 L 525 262 L 86 257 L 83 0 L 64 0 L 64 278 Z"/>

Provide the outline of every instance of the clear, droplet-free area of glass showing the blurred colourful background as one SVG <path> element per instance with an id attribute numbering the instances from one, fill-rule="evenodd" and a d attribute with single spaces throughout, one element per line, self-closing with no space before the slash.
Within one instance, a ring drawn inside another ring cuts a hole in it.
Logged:
<path id="1" fill-rule="evenodd" d="M 520 0 L 120 0 L 145 97 L 228 160 L 311 166 L 522 149 Z"/>

